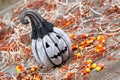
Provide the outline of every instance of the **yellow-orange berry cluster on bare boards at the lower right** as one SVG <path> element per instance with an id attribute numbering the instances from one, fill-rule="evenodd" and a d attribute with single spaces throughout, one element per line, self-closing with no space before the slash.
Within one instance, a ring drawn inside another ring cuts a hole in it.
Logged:
<path id="1" fill-rule="evenodd" d="M 96 69 L 96 71 L 101 71 L 104 68 L 103 64 L 97 65 L 96 63 L 93 63 L 91 59 L 86 61 L 86 65 L 87 67 L 85 68 L 85 70 L 82 71 L 82 75 L 90 73 L 92 69 Z"/>

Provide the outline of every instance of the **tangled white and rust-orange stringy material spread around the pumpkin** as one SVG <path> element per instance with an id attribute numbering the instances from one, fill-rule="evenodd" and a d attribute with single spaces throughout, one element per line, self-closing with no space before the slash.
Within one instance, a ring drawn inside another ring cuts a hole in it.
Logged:
<path id="1" fill-rule="evenodd" d="M 104 35 L 106 40 L 103 45 L 106 52 L 95 56 L 93 51 L 98 44 L 95 41 L 84 50 L 73 53 L 76 55 L 77 52 L 81 52 L 82 58 L 77 61 L 71 60 L 69 64 L 49 72 L 45 69 L 48 73 L 43 73 L 44 68 L 38 66 L 31 51 L 31 43 L 34 43 L 30 38 L 31 25 L 22 25 L 19 21 L 19 14 L 24 8 L 37 11 L 68 35 L 74 33 L 76 37 L 71 39 L 71 45 L 76 44 L 78 47 L 81 46 L 80 42 L 89 39 L 90 36 L 97 38 L 99 35 Z M 89 79 L 88 75 L 85 77 L 82 75 L 87 59 L 97 61 L 104 57 L 104 53 L 108 57 L 110 53 L 120 49 L 120 0 L 24 0 L 11 11 L 12 14 L 8 12 L 0 17 L 0 79 L 2 80 L 24 80 L 26 76 L 31 75 L 32 78 L 37 74 L 40 74 L 43 80 Z M 87 39 L 81 38 L 83 33 L 88 34 Z M 23 72 L 15 73 L 17 76 L 11 72 L 4 72 L 9 66 L 14 66 L 16 71 L 16 65 L 24 66 Z M 38 69 L 33 75 L 29 68 L 34 65 L 37 65 Z M 69 72 L 71 77 L 68 75 Z M 10 79 L 6 75 L 9 75 Z"/>

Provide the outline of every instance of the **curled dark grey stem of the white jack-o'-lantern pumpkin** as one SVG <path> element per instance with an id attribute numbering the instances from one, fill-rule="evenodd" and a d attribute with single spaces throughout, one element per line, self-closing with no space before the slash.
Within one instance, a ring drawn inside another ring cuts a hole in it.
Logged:
<path id="1" fill-rule="evenodd" d="M 46 34 L 53 31 L 54 25 L 43 19 L 39 13 L 25 9 L 20 14 L 20 22 L 22 24 L 29 23 L 28 19 L 25 19 L 26 16 L 28 16 L 31 21 L 32 39 L 43 38 Z"/>

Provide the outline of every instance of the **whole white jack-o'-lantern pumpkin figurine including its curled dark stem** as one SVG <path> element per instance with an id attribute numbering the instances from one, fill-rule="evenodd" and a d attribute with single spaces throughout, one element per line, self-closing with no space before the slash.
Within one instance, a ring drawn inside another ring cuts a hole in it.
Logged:
<path id="1" fill-rule="evenodd" d="M 24 10 L 20 21 L 28 24 L 28 16 L 32 26 L 32 52 L 39 64 L 57 67 L 67 61 L 71 53 L 71 43 L 67 34 L 32 10 Z"/>

